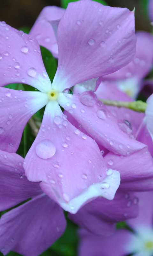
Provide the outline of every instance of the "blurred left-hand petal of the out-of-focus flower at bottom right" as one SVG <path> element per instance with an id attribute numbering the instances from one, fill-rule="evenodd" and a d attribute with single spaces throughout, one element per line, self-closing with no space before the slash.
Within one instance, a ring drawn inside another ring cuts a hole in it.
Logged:
<path id="1" fill-rule="evenodd" d="M 131 253 L 126 245 L 135 239 L 132 232 L 119 229 L 114 235 L 108 237 L 95 236 L 85 230 L 81 230 L 81 243 L 79 256 L 123 256 Z"/>

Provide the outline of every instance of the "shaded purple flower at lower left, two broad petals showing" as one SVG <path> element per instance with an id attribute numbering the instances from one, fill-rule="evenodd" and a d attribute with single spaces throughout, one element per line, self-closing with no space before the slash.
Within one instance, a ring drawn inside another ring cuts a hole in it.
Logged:
<path id="1" fill-rule="evenodd" d="M 66 227 L 61 207 L 46 196 L 38 182 L 30 182 L 23 169 L 24 159 L 0 150 L 0 251 L 37 256 L 58 239 Z"/>

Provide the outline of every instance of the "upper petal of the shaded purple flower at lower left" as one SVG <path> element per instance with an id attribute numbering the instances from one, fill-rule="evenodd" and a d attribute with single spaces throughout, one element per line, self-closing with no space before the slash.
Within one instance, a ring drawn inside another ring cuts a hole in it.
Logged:
<path id="1" fill-rule="evenodd" d="M 23 161 L 17 154 L 0 150 L 0 211 L 42 193 L 39 183 L 27 180 Z"/>

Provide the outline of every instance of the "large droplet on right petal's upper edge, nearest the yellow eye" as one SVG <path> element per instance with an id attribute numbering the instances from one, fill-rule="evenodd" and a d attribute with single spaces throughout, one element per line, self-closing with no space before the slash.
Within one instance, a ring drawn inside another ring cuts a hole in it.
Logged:
<path id="1" fill-rule="evenodd" d="M 93 106 L 97 101 L 97 96 L 94 92 L 82 92 L 79 95 L 79 100 L 85 106 Z"/>

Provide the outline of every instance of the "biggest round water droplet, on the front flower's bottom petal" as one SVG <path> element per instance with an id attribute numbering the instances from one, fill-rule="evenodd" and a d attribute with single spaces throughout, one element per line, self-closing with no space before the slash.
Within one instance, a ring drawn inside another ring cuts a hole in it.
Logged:
<path id="1" fill-rule="evenodd" d="M 51 140 L 40 141 L 36 148 L 36 154 L 42 159 L 48 159 L 55 155 L 56 147 Z"/>

